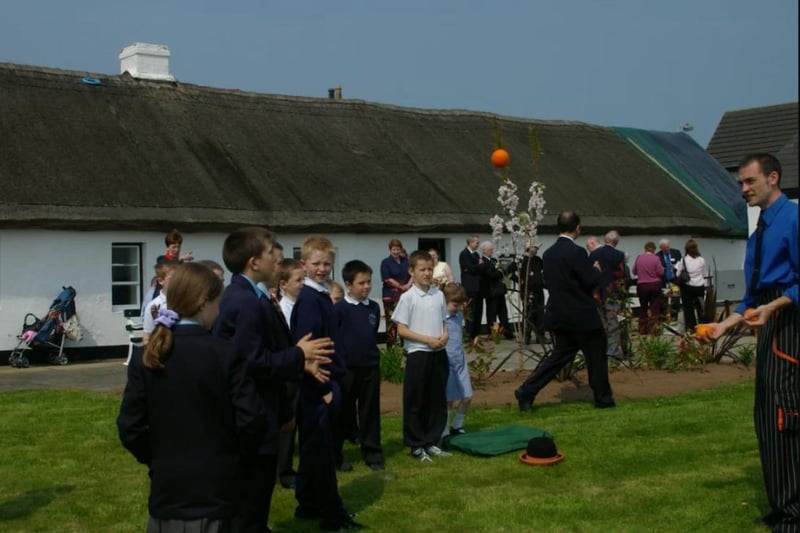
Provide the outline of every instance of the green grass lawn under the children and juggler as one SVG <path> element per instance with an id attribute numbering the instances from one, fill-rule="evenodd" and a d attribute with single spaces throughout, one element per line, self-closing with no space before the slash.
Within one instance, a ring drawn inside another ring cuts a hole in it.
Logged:
<path id="1" fill-rule="evenodd" d="M 551 432 L 563 462 L 532 467 L 516 453 L 455 454 L 418 464 L 400 417 L 383 419 L 387 470 L 355 462 L 339 475 L 349 510 L 373 531 L 759 531 L 767 510 L 752 423 L 753 383 L 616 409 L 551 404 L 522 414 L 475 409 L 467 429 L 530 425 Z M 119 444 L 119 396 L 81 391 L 0 394 L 0 531 L 143 531 L 145 468 Z M 271 526 L 293 518 L 277 488 Z"/>

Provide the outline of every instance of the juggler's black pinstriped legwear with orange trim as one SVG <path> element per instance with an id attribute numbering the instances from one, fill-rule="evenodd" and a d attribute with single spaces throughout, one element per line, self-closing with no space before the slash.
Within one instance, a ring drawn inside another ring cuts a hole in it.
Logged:
<path id="1" fill-rule="evenodd" d="M 758 294 L 758 304 L 781 295 Z M 758 331 L 754 419 L 761 468 L 772 509 L 800 520 L 800 340 L 793 306 L 773 313 Z M 775 531 L 797 531 L 800 523 L 779 524 Z"/>

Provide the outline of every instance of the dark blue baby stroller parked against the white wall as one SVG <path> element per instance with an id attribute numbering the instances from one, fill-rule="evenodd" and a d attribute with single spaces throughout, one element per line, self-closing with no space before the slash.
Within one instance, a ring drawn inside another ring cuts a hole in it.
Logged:
<path id="1" fill-rule="evenodd" d="M 49 350 L 50 364 L 66 365 L 69 362 L 64 354 L 64 340 L 79 341 L 83 333 L 75 312 L 75 289 L 72 287 L 62 287 L 62 289 L 44 318 L 38 318 L 33 313 L 25 315 L 22 321 L 22 333 L 17 335 L 19 343 L 8 358 L 11 366 L 28 368 L 30 361 L 25 352 L 34 348 Z"/>

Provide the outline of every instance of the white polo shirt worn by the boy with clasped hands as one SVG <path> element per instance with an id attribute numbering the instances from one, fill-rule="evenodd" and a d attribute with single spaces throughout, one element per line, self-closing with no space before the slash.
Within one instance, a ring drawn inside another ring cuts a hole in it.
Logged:
<path id="1" fill-rule="evenodd" d="M 414 333 L 440 337 L 444 331 L 444 318 L 447 316 L 447 306 L 444 303 L 442 291 L 431 285 L 427 291 L 420 290 L 416 285 L 400 295 L 392 313 L 392 322 L 408 326 Z M 406 350 L 409 352 L 432 352 L 430 346 L 422 342 L 403 339 Z"/>

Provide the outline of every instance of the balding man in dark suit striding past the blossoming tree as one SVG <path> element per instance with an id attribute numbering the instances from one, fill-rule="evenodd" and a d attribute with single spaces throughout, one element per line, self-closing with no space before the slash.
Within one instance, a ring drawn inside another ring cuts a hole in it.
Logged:
<path id="1" fill-rule="evenodd" d="M 545 287 L 550 293 L 545 308 L 545 328 L 553 334 L 553 352 L 534 373 L 514 391 L 520 411 L 530 411 L 536 394 L 558 372 L 583 352 L 589 385 L 598 408 L 614 407 L 608 382 L 606 332 L 593 292 L 600 286 L 600 265 L 589 261 L 575 239 L 580 235 L 580 217 L 573 211 L 558 215 L 560 233 L 555 244 L 545 251 Z"/>

